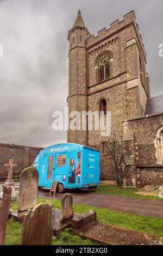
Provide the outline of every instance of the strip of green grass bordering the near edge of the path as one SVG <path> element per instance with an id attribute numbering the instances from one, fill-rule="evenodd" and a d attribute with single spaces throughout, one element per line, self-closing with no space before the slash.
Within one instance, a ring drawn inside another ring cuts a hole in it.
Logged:
<path id="1" fill-rule="evenodd" d="M 51 198 L 39 198 L 38 203 L 54 204 L 60 209 L 60 200 Z M 11 204 L 11 209 L 17 209 L 17 203 Z M 109 209 L 99 208 L 95 206 L 73 204 L 74 212 L 81 214 L 87 210 L 95 210 L 99 222 L 105 222 L 122 228 L 137 230 L 142 233 L 149 233 L 163 237 L 163 218 L 153 218 L 147 216 L 139 216 L 134 214 L 126 214 L 122 212 L 112 211 Z"/>

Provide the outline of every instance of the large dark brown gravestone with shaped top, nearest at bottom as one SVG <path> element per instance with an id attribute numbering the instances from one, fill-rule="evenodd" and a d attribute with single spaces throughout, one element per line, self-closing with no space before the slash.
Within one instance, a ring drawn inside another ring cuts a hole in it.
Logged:
<path id="1" fill-rule="evenodd" d="M 55 207 L 38 204 L 24 214 L 21 245 L 52 245 Z"/>

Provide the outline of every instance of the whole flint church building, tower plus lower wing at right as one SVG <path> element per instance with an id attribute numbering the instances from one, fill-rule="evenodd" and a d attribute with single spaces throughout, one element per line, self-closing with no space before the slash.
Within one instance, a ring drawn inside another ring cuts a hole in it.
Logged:
<path id="1" fill-rule="evenodd" d="M 151 97 L 147 56 L 134 11 L 91 35 L 80 11 L 68 32 L 70 112 L 111 112 L 111 134 L 134 145 L 124 185 L 163 184 L 163 95 Z M 154 85 L 153 85 L 154 86 Z M 101 179 L 115 180 L 101 131 L 67 133 L 67 141 L 101 151 Z"/>

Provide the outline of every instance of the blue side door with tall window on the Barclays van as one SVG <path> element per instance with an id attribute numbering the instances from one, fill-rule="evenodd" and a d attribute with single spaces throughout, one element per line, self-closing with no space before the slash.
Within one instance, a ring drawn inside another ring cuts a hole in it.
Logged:
<path id="1" fill-rule="evenodd" d="M 51 187 L 52 180 L 54 180 L 54 163 L 55 155 L 43 155 L 44 179 L 45 185 Z"/>

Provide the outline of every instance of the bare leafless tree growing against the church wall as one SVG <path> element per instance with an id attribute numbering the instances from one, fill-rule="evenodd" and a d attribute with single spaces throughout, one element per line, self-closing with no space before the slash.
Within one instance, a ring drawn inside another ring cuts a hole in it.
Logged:
<path id="1" fill-rule="evenodd" d="M 112 159 L 114 162 L 117 186 L 122 187 L 122 163 L 125 167 L 126 163 L 129 160 L 130 155 L 132 155 L 134 152 L 134 146 L 129 149 L 126 149 L 124 147 L 123 137 L 119 137 L 114 133 L 114 135 L 112 135 L 112 137 L 109 139 L 109 142 L 106 143 L 106 148 L 108 149 L 110 159 Z"/>

